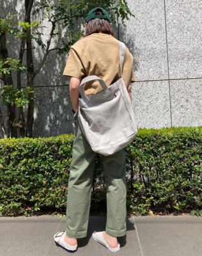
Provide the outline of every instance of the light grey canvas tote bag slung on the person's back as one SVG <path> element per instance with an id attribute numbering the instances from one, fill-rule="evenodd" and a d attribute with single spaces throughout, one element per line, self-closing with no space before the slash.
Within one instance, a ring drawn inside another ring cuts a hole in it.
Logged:
<path id="1" fill-rule="evenodd" d="M 125 58 L 125 44 L 120 42 L 120 70 Z M 99 81 L 102 92 L 86 95 L 84 84 Z M 78 119 L 86 140 L 94 152 L 104 156 L 125 148 L 134 140 L 137 125 L 127 88 L 121 76 L 107 86 L 98 76 L 87 76 L 80 84 Z"/>

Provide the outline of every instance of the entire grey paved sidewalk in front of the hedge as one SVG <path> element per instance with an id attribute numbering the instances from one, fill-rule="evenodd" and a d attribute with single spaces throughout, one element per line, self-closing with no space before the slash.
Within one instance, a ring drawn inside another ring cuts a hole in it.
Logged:
<path id="1" fill-rule="evenodd" d="M 201 256 L 202 217 L 128 217 L 127 237 L 119 239 L 121 250 L 113 253 L 91 239 L 94 230 L 105 229 L 105 217 L 89 218 L 88 237 L 78 239 L 72 254 L 56 246 L 53 235 L 65 230 L 65 217 L 0 217 L 0 256 Z"/>

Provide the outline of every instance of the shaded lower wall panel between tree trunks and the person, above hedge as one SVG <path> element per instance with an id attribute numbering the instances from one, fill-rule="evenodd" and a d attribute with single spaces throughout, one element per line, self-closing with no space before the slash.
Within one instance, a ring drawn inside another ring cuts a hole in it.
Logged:
<path id="1" fill-rule="evenodd" d="M 53 136 L 74 132 L 68 86 L 36 88 L 33 136 Z"/>

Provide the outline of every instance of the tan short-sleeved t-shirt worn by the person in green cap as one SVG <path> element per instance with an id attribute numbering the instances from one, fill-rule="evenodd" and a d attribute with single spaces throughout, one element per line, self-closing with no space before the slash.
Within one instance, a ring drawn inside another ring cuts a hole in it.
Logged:
<path id="1" fill-rule="evenodd" d="M 136 81 L 132 70 L 132 54 L 126 47 L 122 77 L 126 86 Z M 107 86 L 117 81 L 120 75 L 120 45 L 114 36 L 93 33 L 81 38 L 70 48 L 63 76 L 82 79 L 86 76 L 98 76 Z M 102 90 L 98 81 L 84 84 L 86 95 Z"/>

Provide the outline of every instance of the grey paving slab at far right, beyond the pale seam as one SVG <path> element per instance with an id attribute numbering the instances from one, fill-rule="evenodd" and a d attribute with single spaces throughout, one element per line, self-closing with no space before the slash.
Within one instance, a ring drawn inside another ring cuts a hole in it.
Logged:
<path id="1" fill-rule="evenodd" d="M 202 217 L 134 217 L 142 256 L 202 255 Z"/>

